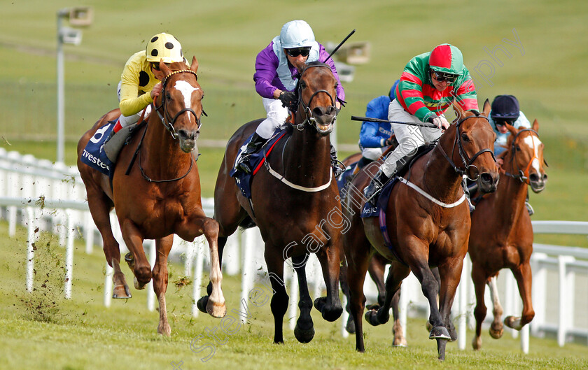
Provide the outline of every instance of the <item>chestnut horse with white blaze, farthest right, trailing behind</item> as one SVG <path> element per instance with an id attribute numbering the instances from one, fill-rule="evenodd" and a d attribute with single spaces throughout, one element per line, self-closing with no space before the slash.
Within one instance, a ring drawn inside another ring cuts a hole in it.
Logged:
<path id="1" fill-rule="evenodd" d="M 533 227 L 525 207 L 528 185 L 533 192 L 545 189 L 547 174 L 543 169 L 543 148 L 537 134 L 539 124 L 533 122 L 532 129 L 515 129 L 506 125 L 510 131 L 507 150 L 503 154 L 504 164 L 500 170 L 498 189 L 479 201 L 472 213 L 469 253 L 472 259 L 472 280 L 476 293 L 474 315 L 476 334 L 472 346 L 479 350 L 482 346 L 482 321 L 486 318 L 484 290 L 489 286 L 493 301 L 494 320 L 490 335 L 498 339 L 503 334 L 500 306 L 496 290 L 496 278 L 501 269 L 510 269 L 519 286 L 523 301 L 521 316 L 507 316 L 507 327 L 520 330 L 533 320 L 535 311 L 531 301 L 531 253 L 533 252 Z"/>

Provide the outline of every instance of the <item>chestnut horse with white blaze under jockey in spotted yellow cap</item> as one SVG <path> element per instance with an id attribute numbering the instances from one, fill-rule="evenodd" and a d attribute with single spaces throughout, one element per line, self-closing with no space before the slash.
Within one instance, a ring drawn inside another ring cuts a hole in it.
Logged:
<path id="1" fill-rule="evenodd" d="M 144 289 L 153 278 L 153 290 L 159 302 L 158 333 L 167 336 L 172 332 L 165 303 L 167 256 L 174 234 L 186 241 L 202 234 L 206 236 L 213 285 L 207 311 L 217 318 L 226 313 L 218 258 L 218 223 L 204 215 L 200 199 L 196 141 L 200 135 L 204 93 L 198 83 L 197 69 L 196 57 L 190 69 L 183 63 L 172 63 L 168 68 L 160 62 L 155 77 L 162 81 L 162 92 L 153 101 L 147 124 L 120 151 L 112 187 L 109 176 L 83 164 L 80 157 L 94 133 L 109 120 L 116 120 L 120 110 L 102 116 L 78 142 L 78 169 L 85 184 L 87 203 L 102 234 L 106 262 L 114 271 L 113 298 L 131 297 L 125 274 L 120 270 L 120 250 L 109 217 L 115 208 L 123 239 L 130 250 L 125 260 L 134 273 L 134 286 Z M 134 162 L 135 148 L 138 148 L 137 162 Z M 127 166 L 128 176 L 125 175 Z M 155 239 L 157 256 L 153 271 L 143 249 L 144 239 Z"/>

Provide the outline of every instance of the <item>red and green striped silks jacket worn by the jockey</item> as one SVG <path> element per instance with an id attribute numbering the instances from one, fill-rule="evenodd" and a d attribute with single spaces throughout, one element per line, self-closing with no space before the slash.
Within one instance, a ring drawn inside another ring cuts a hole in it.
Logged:
<path id="1" fill-rule="evenodd" d="M 463 110 L 478 109 L 474 82 L 468 69 L 463 67 L 461 76 L 444 91 L 433 86 L 428 60 L 430 52 L 410 59 L 396 87 L 396 99 L 405 110 L 427 122 L 431 115 L 442 115 L 451 106 L 454 98 Z"/>

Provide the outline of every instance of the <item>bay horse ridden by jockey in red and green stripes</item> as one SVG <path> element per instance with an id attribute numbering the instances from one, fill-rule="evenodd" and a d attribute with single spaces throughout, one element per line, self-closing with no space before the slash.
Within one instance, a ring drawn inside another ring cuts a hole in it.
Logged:
<path id="1" fill-rule="evenodd" d="M 440 136 L 433 150 L 412 163 L 407 182 L 392 189 L 385 211 L 391 248 L 384 245 L 377 218 L 360 218 L 366 200 L 361 190 L 375 176 L 381 160 L 365 166 L 351 180 L 353 186 L 344 205 L 351 228 L 343 235 L 343 246 L 359 352 L 365 352 L 361 321 L 365 306 L 363 283 L 374 252 L 388 259 L 391 268 L 386 278 L 384 306 L 377 313 L 370 311 L 368 322 L 388 321 L 391 300 L 412 271 L 429 302 L 429 322 L 433 326 L 429 338 L 437 340 L 440 360 L 444 360 L 447 341 L 457 337 L 450 313 L 470 233 L 470 211 L 463 201 L 461 182 L 463 174 L 468 174 L 477 180 L 482 191 L 492 192 L 498 183 L 498 169 L 493 156 L 496 134 L 487 119 L 489 102 L 484 103 L 483 115 L 463 111 L 457 104 L 454 109 L 457 122 Z M 435 266 L 440 272 L 440 284 L 430 269 Z"/>

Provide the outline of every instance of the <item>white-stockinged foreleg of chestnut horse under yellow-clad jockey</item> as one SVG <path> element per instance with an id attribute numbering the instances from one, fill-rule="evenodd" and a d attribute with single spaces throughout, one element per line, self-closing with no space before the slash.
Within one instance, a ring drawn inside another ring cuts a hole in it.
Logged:
<path id="1" fill-rule="evenodd" d="M 211 292 L 206 305 L 206 311 L 215 318 L 223 318 L 227 314 L 225 297 L 221 289 L 223 273 L 221 272 L 221 257 L 218 252 L 218 222 L 212 218 L 202 218 L 202 231 L 209 242 L 210 250 L 210 284 Z M 208 288 L 207 288 L 208 291 Z"/>

